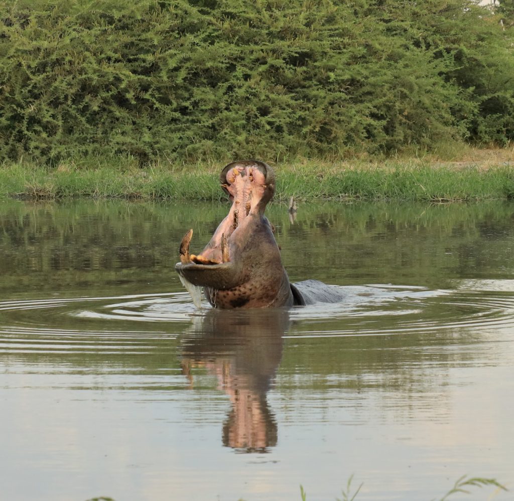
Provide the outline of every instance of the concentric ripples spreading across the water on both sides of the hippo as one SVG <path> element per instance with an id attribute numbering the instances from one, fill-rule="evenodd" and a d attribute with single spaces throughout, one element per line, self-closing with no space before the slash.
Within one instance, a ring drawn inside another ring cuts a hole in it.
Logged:
<path id="1" fill-rule="evenodd" d="M 284 337 L 514 327 L 514 282 L 509 280 L 467 280 L 453 290 L 392 285 L 341 290 L 343 303 L 292 308 L 294 322 Z M 0 353 L 155 351 L 208 311 L 206 302 L 196 310 L 185 292 L 0 301 Z"/>

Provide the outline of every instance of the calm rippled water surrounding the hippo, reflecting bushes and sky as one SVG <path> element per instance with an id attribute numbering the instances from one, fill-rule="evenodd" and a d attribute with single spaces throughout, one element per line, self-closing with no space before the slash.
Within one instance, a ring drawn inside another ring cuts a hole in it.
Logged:
<path id="1" fill-rule="evenodd" d="M 178 243 L 227 206 L 0 205 L 2 498 L 513 487 L 514 205 L 269 209 L 291 279 L 343 303 L 196 309 Z"/>

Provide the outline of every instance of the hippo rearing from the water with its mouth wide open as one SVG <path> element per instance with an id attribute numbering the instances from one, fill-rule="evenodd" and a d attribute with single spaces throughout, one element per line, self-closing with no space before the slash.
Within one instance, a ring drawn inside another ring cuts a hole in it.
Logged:
<path id="1" fill-rule="evenodd" d="M 269 165 L 259 160 L 232 162 L 222 170 L 220 181 L 232 206 L 201 254 L 189 253 L 192 229 L 183 237 L 180 262 L 175 265 L 182 283 L 203 287 L 211 305 L 221 309 L 342 300 L 333 285 L 317 280 L 289 282 L 272 226 L 264 216 L 275 192 Z"/>

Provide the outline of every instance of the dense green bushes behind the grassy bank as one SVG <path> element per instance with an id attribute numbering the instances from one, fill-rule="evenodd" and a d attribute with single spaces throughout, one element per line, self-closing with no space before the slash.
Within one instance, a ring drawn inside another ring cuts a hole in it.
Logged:
<path id="1" fill-rule="evenodd" d="M 509 37 L 468 0 L 2 2 L 0 158 L 506 142 Z"/>

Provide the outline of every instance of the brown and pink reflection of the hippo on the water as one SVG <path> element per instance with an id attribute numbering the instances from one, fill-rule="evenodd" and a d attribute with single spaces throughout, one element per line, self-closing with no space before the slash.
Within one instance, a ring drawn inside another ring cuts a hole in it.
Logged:
<path id="1" fill-rule="evenodd" d="M 282 357 L 286 309 L 242 310 L 227 315 L 211 310 L 182 342 L 183 372 L 194 386 L 195 368 L 218 379 L 232 408 L 223 425 L 223 444 L 243 452 L 267 452 L 277 444 L 277 422 L 266 392 Z"/>

